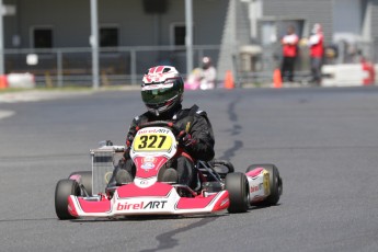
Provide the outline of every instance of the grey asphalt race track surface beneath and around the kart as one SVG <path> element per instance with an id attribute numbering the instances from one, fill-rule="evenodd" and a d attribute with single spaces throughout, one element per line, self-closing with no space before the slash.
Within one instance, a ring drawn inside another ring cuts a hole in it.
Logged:
<path id="1" fill-rule="evenodd" d="M 275 163 L 277 206 L 187 218 L 59 221 L 59 179 L 89 170 L 98 141 L 123 144 L 136 91 L 0 104 L 0 251 L 377 251 L 378 89 L 186 92 L 207 111 L 216 157 Z M 12 112 L 11 114 L 9 114 Z"/>

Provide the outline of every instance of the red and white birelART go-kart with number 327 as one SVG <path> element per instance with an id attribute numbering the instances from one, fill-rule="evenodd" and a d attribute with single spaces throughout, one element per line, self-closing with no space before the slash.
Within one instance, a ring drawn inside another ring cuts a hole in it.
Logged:
<path id="1" fill-rule="evenodd" d="M 92 171 L 73 172 L 58 181 L 55 209 L 59 219 L 135 215 L 194 215 L 243 213 L 251 205 L 275 205 L 283 182 L 274 164 L 253 164 L 247 173 L 234 172 L 224 160 L 196 161 L 197 186 L 164 182 L 169 160 L 183 153 L 172 123 L 140 125 L 129 154 L 136 167 L 133 182 L 110 186 L 112 171 L 125 151 L 111 141 L 91 150 Z"/>

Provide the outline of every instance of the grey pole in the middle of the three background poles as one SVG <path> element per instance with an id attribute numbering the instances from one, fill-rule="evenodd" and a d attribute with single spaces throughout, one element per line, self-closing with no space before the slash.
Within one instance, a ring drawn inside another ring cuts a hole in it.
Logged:
<path id="1" fill-rule="evenodd" d="M 1 0 L 0 0 L 1 1 Z M 93 89 L 99 89 L 99 18 L 98 0 L 91 0 L 91 38 L 92 46 L 92 81 Z"/>

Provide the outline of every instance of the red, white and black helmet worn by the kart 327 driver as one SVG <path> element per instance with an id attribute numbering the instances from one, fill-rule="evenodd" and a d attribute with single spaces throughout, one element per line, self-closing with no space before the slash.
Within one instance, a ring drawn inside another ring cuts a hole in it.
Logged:
<path id="1" fill-rule="evenodd" d="M 141 99 L 147 110 L 156 116 L 181 104 L 184 81 L 171 66 L 157 66 L 147 70 L 141 83 Z"/>

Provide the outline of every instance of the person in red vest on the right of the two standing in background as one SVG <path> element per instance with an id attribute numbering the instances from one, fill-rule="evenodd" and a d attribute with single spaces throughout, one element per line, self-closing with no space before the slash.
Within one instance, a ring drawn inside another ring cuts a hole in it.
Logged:
<path id="1" fill-rule="evenodd" d="M 310 46 L 310 66 L 312 75 L 312 83 L 320 85 L 321 82 L 321 65 L 323 61 L 323 32 L 320 24 L 316 23 L 308 41 Z"/>

